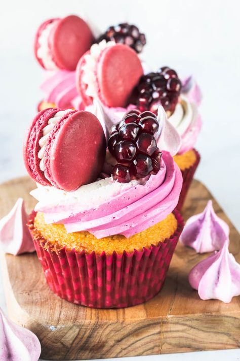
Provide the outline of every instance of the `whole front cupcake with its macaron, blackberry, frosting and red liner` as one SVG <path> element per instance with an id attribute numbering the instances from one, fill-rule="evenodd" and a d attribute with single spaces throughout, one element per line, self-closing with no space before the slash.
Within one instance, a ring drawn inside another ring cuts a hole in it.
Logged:
<path id="1" fill-rule="evenodd" d="M 28 226 L 59 297 L 119 308 L 161 290 L 183 228 L 175 210 L 182 175 L 171 152 L 157 148 L 168 143 L 165 122 L 130 111 L 107 129 L 107 148 L 108 132 L 90 112 L 34 118 L 24 162 L 38 203 Z"/>

